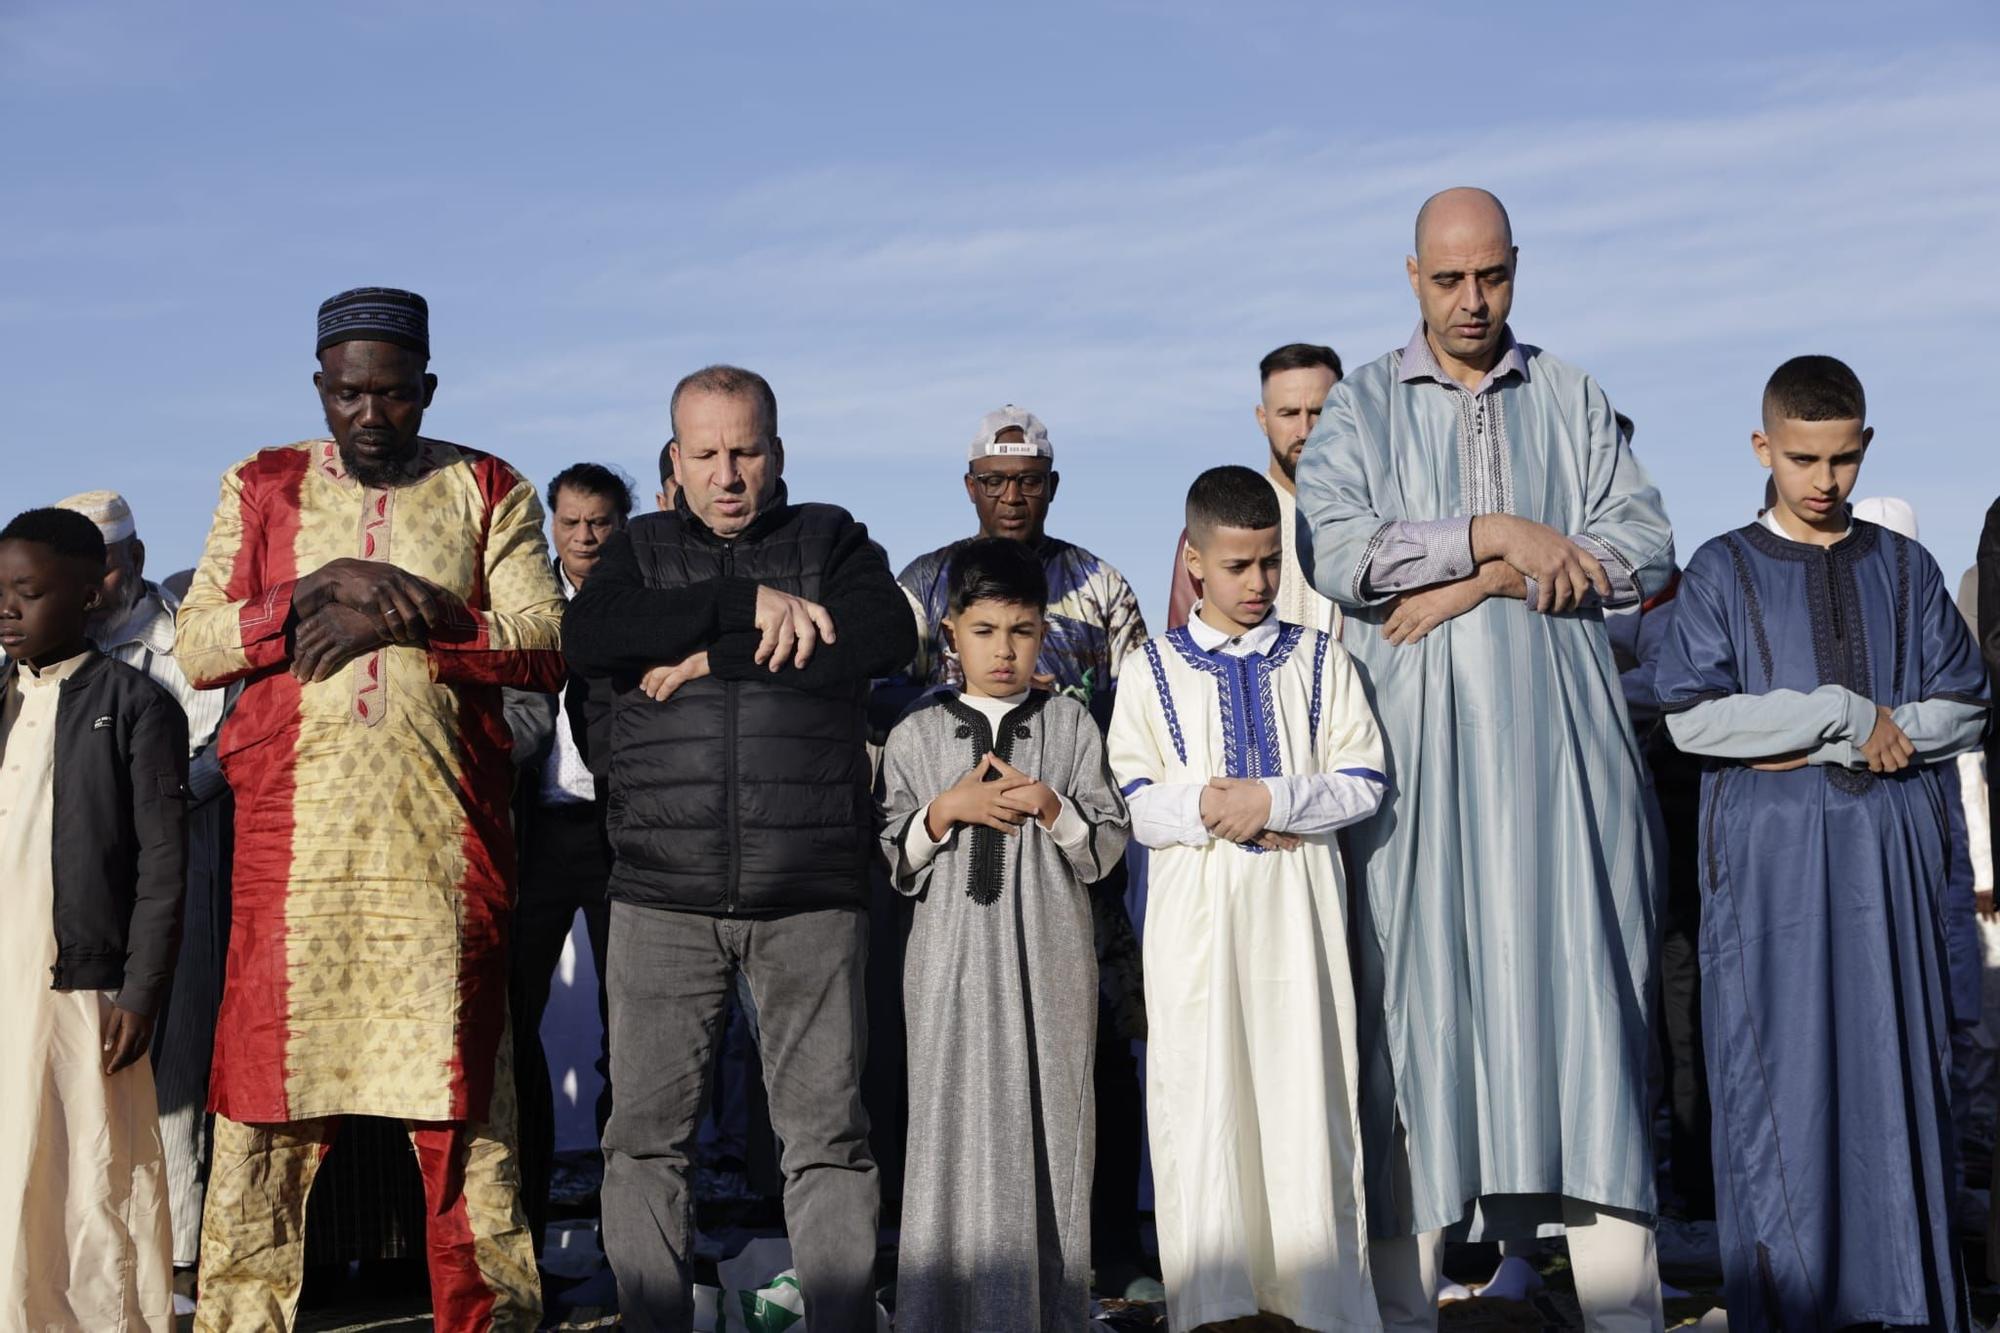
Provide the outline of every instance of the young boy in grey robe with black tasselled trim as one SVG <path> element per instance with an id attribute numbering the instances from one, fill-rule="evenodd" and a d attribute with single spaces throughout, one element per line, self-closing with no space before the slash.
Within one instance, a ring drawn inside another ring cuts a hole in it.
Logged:
<path id="1" fill-rule="evenodd" d="M 1124 855 L 1130 819 L 1088 709 L 1032 689 L 1048 604 L 1034 552 L 968 544 L 948 600 L 964 689 L 928 695 L 882 755 L 882 839 L 896 889 L 916 899 L 896 1323 L 1080 1333 L 1098 1015 L 1088 885 Z"/>

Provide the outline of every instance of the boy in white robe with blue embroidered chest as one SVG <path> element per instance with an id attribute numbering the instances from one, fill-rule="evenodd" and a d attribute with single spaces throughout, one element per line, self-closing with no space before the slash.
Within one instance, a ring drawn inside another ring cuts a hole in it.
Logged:
<path id="1" fill-rule="evenodd" d="M 1242 466 L 1188 490 L 1192 618 L 1146 644 L 1112 773 L 1154 849 L 1148 1121 L 1176 1329 L 1256 1313 L 1374 1327 L 1346 879 L 1382 739 L 1338 642 L 1272 610 L 1278 500 Z"/>

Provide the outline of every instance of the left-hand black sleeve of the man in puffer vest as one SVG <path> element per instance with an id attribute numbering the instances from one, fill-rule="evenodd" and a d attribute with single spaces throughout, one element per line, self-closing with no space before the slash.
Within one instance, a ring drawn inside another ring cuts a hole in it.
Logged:
<path id="1" fill-rule="evenodd" d="M 562 650 L 580 677 L 632 679 L 700 652 L 728 624 L 754 618 L 756 584 L 748 578 L 648 588 L 630 532 L 616 532 L 562 618 Z"/>

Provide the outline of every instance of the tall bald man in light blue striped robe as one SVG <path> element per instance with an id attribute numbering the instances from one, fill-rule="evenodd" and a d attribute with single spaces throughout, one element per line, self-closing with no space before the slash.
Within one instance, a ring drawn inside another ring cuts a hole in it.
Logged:
<path id="1" fill-rule="evenodd" d="M 1422 322 L 1298 466 L 1388 743 L 1392 797 L 1348 829 L 1372 1267 L 1384 1323 L 1430 1329 L 1446 1229 L 1560 1225 L 1588 1327 L 1658 1329 L 1652 849 L 1604 610 L 1674 540 L 1604 392 L 1514 340 L 1516 258 L 1492 194 L 1426 202 Z"/>

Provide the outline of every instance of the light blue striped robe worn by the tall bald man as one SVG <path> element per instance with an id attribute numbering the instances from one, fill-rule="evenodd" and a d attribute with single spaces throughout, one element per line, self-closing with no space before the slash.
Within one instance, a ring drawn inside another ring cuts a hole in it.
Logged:
<path id="1" fill-rule="evenodd" d="M 1348 608 L 1388 745 L 1390 799 L 1348 829 L 1378 1237 L 1524 1235 L 1562 1195 L 1654 1211 L 1652 849 L 1602 612 L 1494 598 L 1396 648 L 1364 582 L 1384 522 L 1484 508 L 1596 538 L 1642 596 L 1666 582 L 1672 530 L 1604 392 L 1518 350 L 1484 412 L 1400 374 L 1412 352 L 1356 370 L 1298 468 L 1302 562 Z"/>

